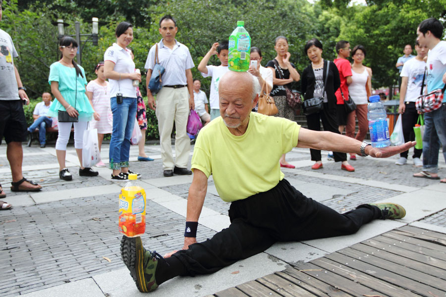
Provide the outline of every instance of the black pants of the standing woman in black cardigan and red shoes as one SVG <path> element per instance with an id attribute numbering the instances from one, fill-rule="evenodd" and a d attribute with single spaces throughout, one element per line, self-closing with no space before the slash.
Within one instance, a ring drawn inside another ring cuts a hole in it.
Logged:
<path id="1" fill-rule="evenodd" d="M 336 119 L 336 108 L 329 108 L 328 103 L 324 103 L 324 109 L 320 112 L 307 115 L 307 125 L 308 129 L 313 131 L 321 131 L 321 123 L 324 127 L 324 131 L 330 131 L 333 133 L 339 133 L 337 119 Z M 320 161 L 321 150 L 310 148 L 311 160 Z M 333 155 L 335 157 L 335 162 L 346 161 L 347 154 L 345 152 L 334 151 Z"/>

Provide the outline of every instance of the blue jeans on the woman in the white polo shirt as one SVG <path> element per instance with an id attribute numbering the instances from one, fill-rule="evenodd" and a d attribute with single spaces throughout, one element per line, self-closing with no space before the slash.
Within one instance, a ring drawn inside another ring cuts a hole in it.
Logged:
<path id="1" fill-rule="evenodd" d="M 130 139 L 133 125 L 136 120 L 136 98 L 124 97 L 122 103 L 116 103 L 116 97 L 111 99 L 111 112 L 113 113 L 113 129 L 110 141 L 110 168 L 120 170 L 128 167 L 130 154 Z"/>

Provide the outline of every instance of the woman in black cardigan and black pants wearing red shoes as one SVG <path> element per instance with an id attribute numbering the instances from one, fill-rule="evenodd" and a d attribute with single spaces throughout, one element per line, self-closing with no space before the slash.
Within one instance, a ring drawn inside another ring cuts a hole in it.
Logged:
<path id="1" fill-rule="evenodd" d="M 305 45 L 304 49 L 311 64 L 302 72 L 301 88 L 305 100 L 315 102 L 314 106 L 308 106 L 306 111 L 308 129 L 321 131 L 321 121 L 324 131 L 339 134 L 336 119 L 336 97 L 335 91 L 340 86 L 339 72 L 335 63 L 322 58 L 322 43 L 313 38 Z M 328 73 L 327 73 L 328 69 Z M 304 100 L 304 102 L 305 102 Z M 316 106 L 316 102 L 320 104 Z M 304 106 L 306 104 L 304 103 Z M 310 109 L 311 107 L 311 109 Z M 311 169 L 322 168 L 321 151 L 310 148 L 311 160 L 316 163 Z M 344 152 L 333 152 L 335 162 L 342 162 L 341 169 L 354 171 L 353 166 L 347 162 L 347 154 Z"/>

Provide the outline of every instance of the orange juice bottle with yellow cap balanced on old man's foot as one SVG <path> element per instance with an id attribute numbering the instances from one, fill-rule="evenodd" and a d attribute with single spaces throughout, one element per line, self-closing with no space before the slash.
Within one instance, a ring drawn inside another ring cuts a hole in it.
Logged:
<path id="1" fill-rule="evenodd" d="M 136 174 L 119 193 L 119 232 L 127 237 L 141 236 L 146 231 L 146 191 L 136 181 Z"/>

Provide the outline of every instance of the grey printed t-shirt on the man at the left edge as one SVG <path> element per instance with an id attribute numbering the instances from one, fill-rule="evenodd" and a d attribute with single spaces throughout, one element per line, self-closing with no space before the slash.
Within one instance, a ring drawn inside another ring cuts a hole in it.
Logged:
<path id="1" fill-rule="evenodd" d="M 12 39 L 0 29 L 0 100 L 19 100 L 14 58 L 18 53 Z"/>

